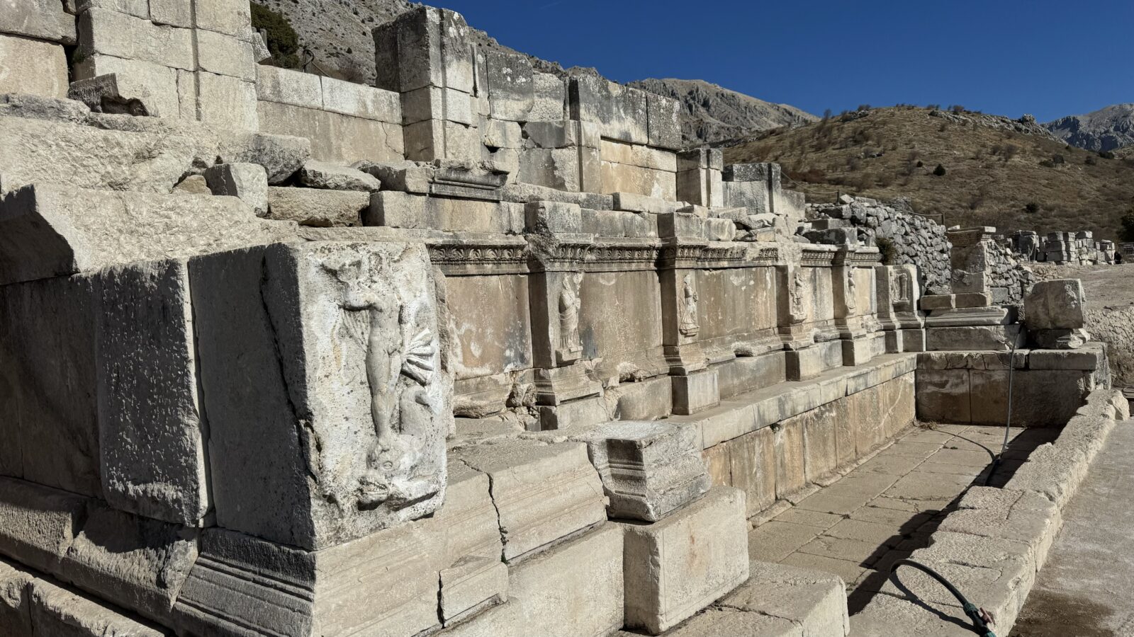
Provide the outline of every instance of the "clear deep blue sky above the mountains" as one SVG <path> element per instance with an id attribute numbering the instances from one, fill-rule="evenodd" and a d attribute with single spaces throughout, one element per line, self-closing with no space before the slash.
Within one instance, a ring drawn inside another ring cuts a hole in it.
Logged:
<path id="1" fill-rule="evenodd" d="M 1134 0 L 432 0 L 619 82 L 701 78 L 815 114 L 963 104 L 1040 121 L 1134 102 Z"/>

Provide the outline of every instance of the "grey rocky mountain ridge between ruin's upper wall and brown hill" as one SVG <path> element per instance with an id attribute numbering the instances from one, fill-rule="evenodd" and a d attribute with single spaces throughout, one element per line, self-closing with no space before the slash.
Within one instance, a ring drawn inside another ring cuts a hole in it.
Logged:
<path id="1" fill-rule="evenodd" d="M 629 85 L 682 102 L 682 135 L 689 145 L 819 119 L 795 107 L 758 100 L 702 79 L 640 79 Z"/>

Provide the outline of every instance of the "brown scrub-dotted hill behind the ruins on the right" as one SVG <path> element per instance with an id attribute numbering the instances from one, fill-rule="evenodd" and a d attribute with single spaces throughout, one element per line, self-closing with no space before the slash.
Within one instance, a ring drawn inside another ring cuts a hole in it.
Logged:
<path id="1" fill-rule="evenodd" d="M 797 182 L 790 187 L 812 201 L 839 192 L 907 196 L 914 210 L 943 214 L 949 226 L 1116 237 L 1119 218 L 1134 207 L 1134 160 L 1103 159 L 1005 124 L 1016 120 L 976 116 L 858 111 L 726 147 L 725 161 L 779 162 Z M 1029 122 L 1018 121 L 1023 129 Z M 934 175 L 938 164 L 945 175 Z"/>

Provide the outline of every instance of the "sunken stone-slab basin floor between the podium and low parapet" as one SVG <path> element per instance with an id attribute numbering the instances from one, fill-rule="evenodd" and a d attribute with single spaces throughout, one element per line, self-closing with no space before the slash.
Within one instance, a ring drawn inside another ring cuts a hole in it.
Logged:
<path id="1" fill-rule="evenodd" d="M 1002 486 L 1027 453 L 1056 430 L 1013 428 L 991 486 Z M 886 581 L 889 567 L 928 545 L 951 504 L 983 484 L 1004 427 L 914 428 L 837 482 L 748 534 L 753 560 L 832 572 L 847 584 L 850 613 Z"/>

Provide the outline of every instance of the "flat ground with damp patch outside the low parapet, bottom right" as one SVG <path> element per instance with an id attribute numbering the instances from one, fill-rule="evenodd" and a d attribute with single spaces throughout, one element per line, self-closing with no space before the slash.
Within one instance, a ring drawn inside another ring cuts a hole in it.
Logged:
<path id="1" fill-rule="evenodd" d="M 1119 423 L 1064 510 L 1013 637 L 1134 637 L 1134 421 Z"/>

